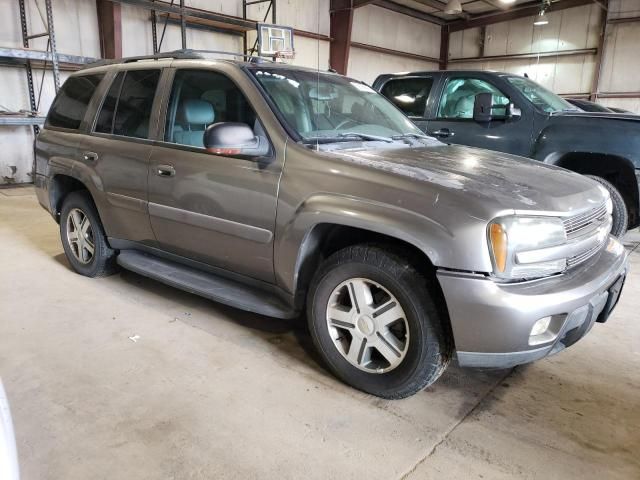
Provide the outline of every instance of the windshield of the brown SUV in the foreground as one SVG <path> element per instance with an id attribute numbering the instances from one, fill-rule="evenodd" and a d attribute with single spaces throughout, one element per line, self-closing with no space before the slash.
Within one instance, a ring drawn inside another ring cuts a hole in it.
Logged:
<path id="1" fill-rule="evenodd" d="M 281 68 L 262 68 L 253 74 L 305 142 L 424 136 L 385 97 L 356 80 Z"/>

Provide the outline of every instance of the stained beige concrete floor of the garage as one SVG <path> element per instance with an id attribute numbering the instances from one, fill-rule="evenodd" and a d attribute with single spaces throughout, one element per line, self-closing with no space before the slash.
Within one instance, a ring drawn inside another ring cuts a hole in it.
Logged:
<path id="1" fill-rule="evenodd" d="M 640 478 L 640 248 L 614 316 L 561 355 L 383 401 L 325 372 L 300 324 L 72 273 L 30 188 L 0 190 L 0 247 L 25 480 Z"/>

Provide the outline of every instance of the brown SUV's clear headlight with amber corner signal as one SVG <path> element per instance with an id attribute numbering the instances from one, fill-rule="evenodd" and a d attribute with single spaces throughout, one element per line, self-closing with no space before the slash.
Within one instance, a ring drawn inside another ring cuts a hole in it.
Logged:
<path id="1" fill-rule="evenodd" d="M 552 247 L 567 242 L 559 218 L 509 216 L 488 227 L 493 273 L 506 280 L 531 279 L 562 272 L 567 259 L 555 258 Z"/>

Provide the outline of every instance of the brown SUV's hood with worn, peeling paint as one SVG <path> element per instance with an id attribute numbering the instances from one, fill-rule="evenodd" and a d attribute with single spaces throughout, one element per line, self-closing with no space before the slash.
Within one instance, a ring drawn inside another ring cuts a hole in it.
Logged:
<path id="1" fill-rule="evenodd" d="M 454 145 L 333 151 L 362 166 L 464 192 L 494 209 L 572 215 L 601 205 L 597 184 L 562 168 L 515 155 Z"/>

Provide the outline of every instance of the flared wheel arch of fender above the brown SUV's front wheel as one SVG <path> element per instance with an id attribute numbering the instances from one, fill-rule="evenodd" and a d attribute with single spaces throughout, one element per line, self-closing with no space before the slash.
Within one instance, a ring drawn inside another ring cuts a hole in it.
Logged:
<path id="1" fill-rule="evenodd" d="M 437 221 L 370 200 L 317 194 L 302 203 L 276 232 L 276 278 L 287 291 L 296 291 L 301 266 L 317 247 L 311 232 L 323 224 L 344 225 L 403 240 L 419 248 L 436 266 L 446 265 L 454 256 L 454 234 Z"/>

